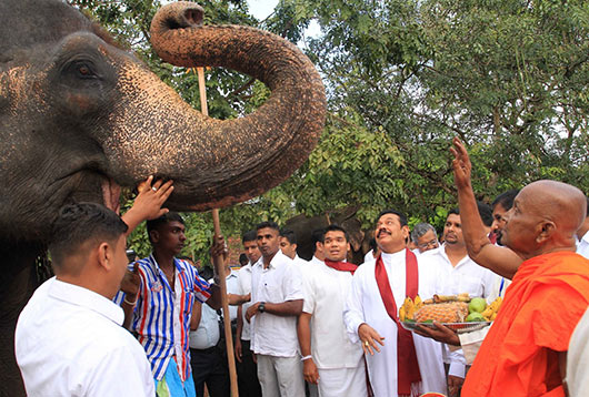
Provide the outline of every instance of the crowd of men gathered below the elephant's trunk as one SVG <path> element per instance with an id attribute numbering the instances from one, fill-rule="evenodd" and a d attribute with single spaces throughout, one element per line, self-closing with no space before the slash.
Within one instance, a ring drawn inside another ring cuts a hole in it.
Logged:
<path id="1" fill-rule="evenodd" d="M 49 247 L 56 277 L 17 327 L 27 393 L 223 397 L 224 355 L 234 354 L 244 397 L 565 396 L 567 385 L 581 396 L 588 198 L 539 181 L 485 205 L 457 140 L 452 153 L 459 207 L 441 237 L 427 223 L 410 231 L 389 208 L 375 220 L 363 264 L 347 261 L 349 236 L 338 225 L 312 232 L 305 261 L 292 231 L 261 222 L 242 236 L 247 263 L 227 267 L 227 314 L 218 283 L 179 257 L 183 220 L 161 208 L 171 183 L 146 181 L 122 220 L 97 204 L 63 208 Z M 128 265 L 126 236 L 142 220 L 152 253 Z M 211 254 L 227 257 L 222 238 Z M 407 296 L 462 293 L 505 298 L 491 326 L 463 334 L 438 323 L 416 333 L 401 326 Z M 234 352 L 223 348 L 220 315 L 231 319 Z"/>

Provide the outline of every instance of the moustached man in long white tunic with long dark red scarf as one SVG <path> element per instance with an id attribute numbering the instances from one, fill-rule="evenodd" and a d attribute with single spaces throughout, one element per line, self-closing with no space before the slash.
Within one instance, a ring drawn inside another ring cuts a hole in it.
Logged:
<path id="1" fill-rule="evenodd" d="M 375 396 L 446 393 L 441 345 L 407 332 L 398 318 L 406 296 L 436 293 L 441 269 L 407 250 L 402 213 L 382 212 L 375 236 L 382 253 L 353 274 L 343 312 L 348 336 L 362 344 Z"/>

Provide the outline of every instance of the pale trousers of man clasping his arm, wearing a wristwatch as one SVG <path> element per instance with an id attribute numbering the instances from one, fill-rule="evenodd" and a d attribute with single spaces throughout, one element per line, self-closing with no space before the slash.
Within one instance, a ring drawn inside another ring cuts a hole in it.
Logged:
<path id="1" fill-rule="evenodd" d="M 302 363 L 298 356 L 256 356 L 263 397 L 305 397 Z"/>

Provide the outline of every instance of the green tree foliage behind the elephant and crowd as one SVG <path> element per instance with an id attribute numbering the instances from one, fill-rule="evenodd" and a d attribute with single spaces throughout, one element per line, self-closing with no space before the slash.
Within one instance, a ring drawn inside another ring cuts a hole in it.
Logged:
<path id="1" fill-rule="evenodd" d="M 159 1 L 70 2 L 199 109 L 196 74 L 162 63 L 149 45 Z M 227 234 L 349 204 L 367 226 L 387 206 L 441 225 L 456 204 L 448 152 L 456 135 L 471 153 L 479 198 L 546 177 L 589 192 L 586 1 L 279 0 L 264 21 L 246 1 L 200 3 L 206 23 L 257 26 L 303 43 L 328 92 L 327 125 L 309 161 L 280 186 L 222 210 Z M 312 20 L 321 34 L 305 38 Z M 207 73 L 207 91 L 220 119 L 252 112 L 269 94 L 219 69 Z M 190 223 L 199 232 L 188 253 L 207 255 L 209 215 L 191 214 Z"/>

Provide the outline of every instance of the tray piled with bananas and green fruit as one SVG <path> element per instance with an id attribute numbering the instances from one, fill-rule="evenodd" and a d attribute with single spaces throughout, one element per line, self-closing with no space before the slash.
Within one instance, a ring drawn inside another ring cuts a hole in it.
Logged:
<path id="1" fill-rule="evenodd" d="M 433 295 L 431 299 L 415 301 L 407 297 L 399 308 L 399 320 L 403 328 L 415 330 L 421 324 L 435 328 L 433 320 L 457 333 L 466 333 L 485 328 L 497 317 L 502 298 L 498 297 L 487 305 L 481 297 L 471 298 L 469 294 Z"/>

